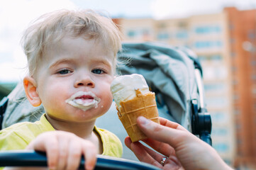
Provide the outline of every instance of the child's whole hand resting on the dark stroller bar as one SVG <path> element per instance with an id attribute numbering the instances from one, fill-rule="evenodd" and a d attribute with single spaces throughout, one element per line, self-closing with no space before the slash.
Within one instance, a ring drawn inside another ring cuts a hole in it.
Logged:
<path id="1" fill-rule="evenodd" d="M 84 155 L 85 169 L 94 169 L 96 147 L 70 132 L 44 132 L 35 138 L 26 149 L 46 152 L 50 169 L 78 169 Z"/>

